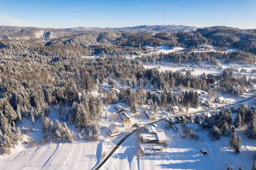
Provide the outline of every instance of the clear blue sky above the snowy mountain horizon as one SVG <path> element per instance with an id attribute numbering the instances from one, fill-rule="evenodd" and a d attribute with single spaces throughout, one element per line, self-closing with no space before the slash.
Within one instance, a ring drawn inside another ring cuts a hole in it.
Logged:
<path id="1" fill-rule="evenodd" d="M 0 25 L 105 28 L 162 24 L 256 28 L 256 0 L 0 0 Z"/>

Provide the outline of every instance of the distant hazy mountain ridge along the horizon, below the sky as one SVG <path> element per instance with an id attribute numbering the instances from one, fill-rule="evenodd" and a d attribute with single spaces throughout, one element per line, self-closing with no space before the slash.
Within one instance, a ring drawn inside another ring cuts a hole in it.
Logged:
<path id="1" fill-rule="evenodd" d="M 12 27 L 0 26 L 0 40 L 12 39 L 53 39 L 62 36 L 71 36 L 82 33 L 95 32 L 129 32 L 129 33 L 149 33 L 157 34 L 160 32 L 177 33 L 189 32 L 196 30 L 197 27 L 178 26 L 178 25 L 162 25 L 162 26 L 136 26 L 122 28 L 99 28 L 99 27 L 73 27 L 73 28 L 36 28 L 36 27 Z"/>

